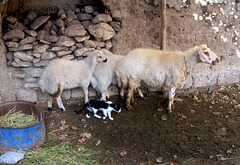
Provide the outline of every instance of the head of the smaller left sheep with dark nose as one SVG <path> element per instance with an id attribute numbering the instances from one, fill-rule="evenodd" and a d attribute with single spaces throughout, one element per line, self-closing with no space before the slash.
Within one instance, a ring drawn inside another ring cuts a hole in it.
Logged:
<path id="1" fill-rule="evenodd" d="M 107 57 L 99 50 L 92 51 L 89 56 L 91 69 L 94 69 L 98 62 L 107 62 Z"/>

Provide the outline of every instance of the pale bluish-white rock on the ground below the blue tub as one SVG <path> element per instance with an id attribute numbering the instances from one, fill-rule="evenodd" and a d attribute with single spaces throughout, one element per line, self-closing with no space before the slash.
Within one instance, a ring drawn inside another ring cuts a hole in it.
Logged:
<path id="1" fill-rule="evenodd" d="M 24 154 L 21 152 L 7 152 L 0 156 L 0 162 L 7 164 L 16 164 L 19 160 L 22 160 Z"/>

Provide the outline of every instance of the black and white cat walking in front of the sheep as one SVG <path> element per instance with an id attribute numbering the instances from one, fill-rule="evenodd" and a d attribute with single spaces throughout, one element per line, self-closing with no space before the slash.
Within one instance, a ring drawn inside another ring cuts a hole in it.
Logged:
<path id="1" fill-rule="evenodd" d="M 121 107 L 119 104 L 114 104 L 111 101 L 105 101 L 105 100 L 100 100 L 100 99 L 89 100 L 81 110 L 75 111 L 75 112 L 80 113 L 84 109 L 85 109 L 85 114 L 86 114 L 87 118 L 90 118 L 88 113 L 92 112 L 95 117 L 100 119 L 102 117 L 97 115 L 97 112 L 102 111 L 103 115 L 104 115 L 103 119 L 106 119 L 108 116 L 110 120 L 113 120 L 113 118 L 111 117 L 112 111 L 115 111 L 118 113 L 121 112 Z"/>

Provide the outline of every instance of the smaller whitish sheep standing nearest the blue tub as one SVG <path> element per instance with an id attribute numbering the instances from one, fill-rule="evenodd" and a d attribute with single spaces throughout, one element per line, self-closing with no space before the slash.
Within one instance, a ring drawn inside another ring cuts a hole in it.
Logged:
<path id="1" fill-rule="evenodd" d="M 38 83 L 41 90 L 49 94 L 48 110 L 52 111 L 52 99 L 56 97 L 58 107 L 66 111 L 61 94 L 64 89 L 82 87 L 85 103 L 88 102 L 88 86 L 93 71 L 98 62 L 106 62 L 106 56 L 98 51 L 92 51 L 89 56 L 80 61 L 55 59 L 44 69 Z"/>

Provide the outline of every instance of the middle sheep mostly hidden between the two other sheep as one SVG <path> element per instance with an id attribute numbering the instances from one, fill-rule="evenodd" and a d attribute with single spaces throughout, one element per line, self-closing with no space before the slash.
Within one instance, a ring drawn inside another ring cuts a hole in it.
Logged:
<path id="1" fill-rule="evenodd" d="M 103 54 L 106 55 L 108 62 L 98 63 L 96 69 L 93 72 L 93 77 L 91 78 L 92 87 L 101 93 L 101 99 L 109 99 L 108 87 L 113 84 L 117 85 L 115 68 L 116 65 L 125 57 L 124 55 L 114 55 L 106 49 L 101 50 Z M 143 97 L 141 90 L 139 89 L 139 95 Z"/>

